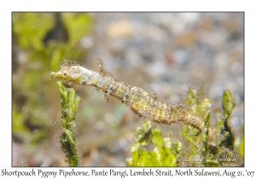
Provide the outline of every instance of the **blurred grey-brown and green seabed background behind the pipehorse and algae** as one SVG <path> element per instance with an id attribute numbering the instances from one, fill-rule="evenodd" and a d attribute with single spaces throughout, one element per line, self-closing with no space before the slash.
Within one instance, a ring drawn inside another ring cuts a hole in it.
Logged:
<path id="1" fill-rule="evenodd" d="M 62 59 L 99 71 L 101 59 L 119 81 L 160 101 L 183 102 L 189 87 L 204 84 L 212 101 L 211 126 L 221 96 L 236 96 L 230 125 L 244 130 L 243 13 L 13 13 L 13 166 L 67 166 L 61 151 L 61 101 L 56 79 Z M 82 100 L 76 114 L 82 166 L 125 166 L 135 130 L 144 119 L 94 87 L 73 85 Z M 184 141 L 179 124 L 154 124 Z"/>

